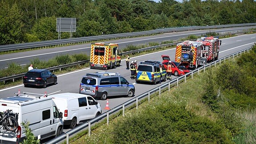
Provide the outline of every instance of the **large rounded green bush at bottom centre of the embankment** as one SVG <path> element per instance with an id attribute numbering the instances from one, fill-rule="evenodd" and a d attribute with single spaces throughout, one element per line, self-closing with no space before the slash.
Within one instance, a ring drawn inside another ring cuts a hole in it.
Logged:
<path id="1" fill-rule="evenodd" d="M 168 102 L 148 106 L 136 116 L 118 121 L 113 129 L 115 144 L 232 143 L 221 124 Z"/>

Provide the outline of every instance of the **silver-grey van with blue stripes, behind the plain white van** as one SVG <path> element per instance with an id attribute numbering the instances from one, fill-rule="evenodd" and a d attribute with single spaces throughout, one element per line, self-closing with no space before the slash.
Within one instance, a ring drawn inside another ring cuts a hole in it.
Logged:
<path id="1" fill-rule="evenodd" d="M 79 93 L 106 100 L 108 96 L 134 96 L 135 87 L 117 72 L 87 73 Z"/>

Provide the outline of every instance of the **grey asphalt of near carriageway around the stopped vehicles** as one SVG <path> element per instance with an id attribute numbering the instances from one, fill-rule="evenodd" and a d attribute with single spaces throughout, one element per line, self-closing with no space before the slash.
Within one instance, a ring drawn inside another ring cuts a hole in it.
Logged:
<path id="1" fill-rule="evenodd" d="M 163 37 L 164 35 L 161 35 L 161 36 Z M 245 48 L 249 48 L 252 45 L 254 45 L 254 42 L 256 42 L 256 34 L 241 35 L 241 36 L 222 39 L 222 45 L 220 46 L 219 58 L 228 56 L 234 52 L 238 52 Z M 150 54 L 147 54 L 144 56 L 131 57 L 131 60 L 137 60 L 139 63 L 140 63 L 140 61 L 144 61 L 144 60 L 162 61 L 161 55 L 169 55 L 171 57 L 171 60 L 174 60 L 175 50 L 176 50 L 176 48 L 170 48 L 165 51 L 150 53 Z M 88 72 L 97 72 L 97 71 L 99 71 L 99 70 L 84 68 L 84 69 L 80 69 L 80 70 L 77 70 L 74 72 L 69 72 L 66 74 L 58 75 L 57 76 L 58 84 L 50 85 L 47 88 L 25 88 L 23 84 L 20 84 L 20 85 L 13 86 L 10 88 L 1 89 L 0 90 L 0 98 L 14 96 L 14 93 L 18 92 L 19 89 L 21 92 L 33 92 L 33 93 L 41 93 L 41 94 L 44 94 L 44 92 L 46 92 L 47 94 L 60 93 L 60 92 L 78 93 L 80 80 L 81 80 L 82 76 L 84 76 Z M 147 92 L 148 90 L 160 85 L 160 84 L 156 84 L 156 85 L 136 84 L 135 80 L 130 79 L 130 71 L 125 69 L 125 61 L 124 60 L 122 60 L 120 67 L 114 68 L 114 69 L 111 69 L 108 71 L 109 72 L 120 72 L 121 76 L 124 76 L 124 78 L 126 78 L 130 83 L 134 84 L 135 88 L 136 88 L 135 96 L 138 96 L 138 95 L 140 95 L 144 92 Z M 122 104 L 129 99 L 130 99 L 130 97 L 125 97 L 125 96 L 109 97 L 109 107 L 114 108 L 117 105 Z M 101 105 L 102 112 L 106 112 L 106 110 L 104 110 L 104 107 L 106 106 L 106 100 L 97 100 L 97 101 Z M 66 131 L 68 131 L 68 129 L 64 129 L 64 131 L 66 132 Z"/>

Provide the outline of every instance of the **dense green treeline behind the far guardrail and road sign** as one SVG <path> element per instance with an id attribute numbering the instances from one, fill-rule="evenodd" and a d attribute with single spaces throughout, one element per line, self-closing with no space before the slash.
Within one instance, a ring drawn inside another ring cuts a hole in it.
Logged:
<path id="1" fill-rule="evenodd" d="M 254 0 L 1 0 L 0 45 L 56 40 L 57 17 L 76 18 L 73 37 L 256 21 Z M 69 38 L 62 32 L 61 38 Z"/>

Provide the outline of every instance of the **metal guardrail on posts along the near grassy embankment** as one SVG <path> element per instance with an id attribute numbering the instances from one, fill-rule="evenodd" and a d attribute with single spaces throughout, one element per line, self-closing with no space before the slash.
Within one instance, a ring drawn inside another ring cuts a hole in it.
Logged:
<path id="1" fill-rule="evenodd" d="M 160 85 L 156 88 L 153 88 L 153 89 L 149 90 L 148 92 L 144 92 L 143 94 L 141 94 L 139 96 L 136 96 L 136 97 L 124 102 L 123 104 L 120 104 L 120 105 L 116 106 L 115 108 L 113 108 L 111 110 L 108 110 L 107 112 L 104 112 L 100 116 L 98 116 L 98 117 L 96 117 L 92 120 L 89 120 L 88 122 L 86 122 L 84 124 L 81 124 L 81 125 L 77 126 L 76 128 L 73 128 L 72 130 L 70 130 L 70 131 L 68 131 L 68 132 L 66 132 L 66 133 L 48 141 L 48 142 L 46 142 L 45 144 L 56 144 L 57 142 L 61 142 L 62 140 L 65 140 L 65 139 L 67 139 L 67 141 L 68 141 L 69 136 L 72 136 L 73 134 L 76 134 L 77 132 L 80 132 L 81 130 L 85 130 L 85 129 L 88 129 L 88 135 L 90 135 L 91 134 L 91 124 L 97 123 L 97 121 L 102 120 L 102 119 L 106 119 L 106 118 L 107 118 L 107 124 L 108 124 L 109 123 L 109 115 L 114 114 L 115 112 L 120 112 L 122 110 L 123 111 L 123 116 L 124 116 L 125 108 L 130 107 L 131 104 L 136 104 L 136 108 L 138 108 L 138 101 L 139 100 L 142 100 L 142 99 L 148 97 L 148 101 L 150 101 L 150 96 L 152 94 L 154 94 L 155 92 L 158 91 L 159 96 L 160 96 L 162 89 L 168 87 L 168 91 L 170 91 L 171 84 L 178 86 L 179 82 L 183 82 L 182 80 L 184 80 L 184 82 L 186 82 L 186 79 L 187 79 L 188 76 L 191 76 L 190 78 L 193 79 L 194 74 L 197 73 L 199 75 L 201 71 L 205 72 L 206 68 L 211 68 L 212 65 L 214 65 L 214 67 L 216 67 L 216 64 L 221 64 L 222 61 L 230 60 L 230 58 L 233 59 L 235 56 L 238 56 L 239 54 L 241 55 L 242 52 L 246 52 L 246 51 L 248 52 L 251 49 L 252 48 L 247 48 L 247 49 L 244 49 L 240 52 L 236 52 L 236 53 L 233 53 L 229 56 L 221 58 L 219 60 L 213 61 L 210 64 L 206 64 L 203 67 L 197 68 L 197 69 L 195 69 L 191 72 L 186 73 L 184 76 L 177 77 L 177 78 L 169 81 L 168 83 L 164 83 L 164 84 L 162 84 L 162 85 Z"/>

